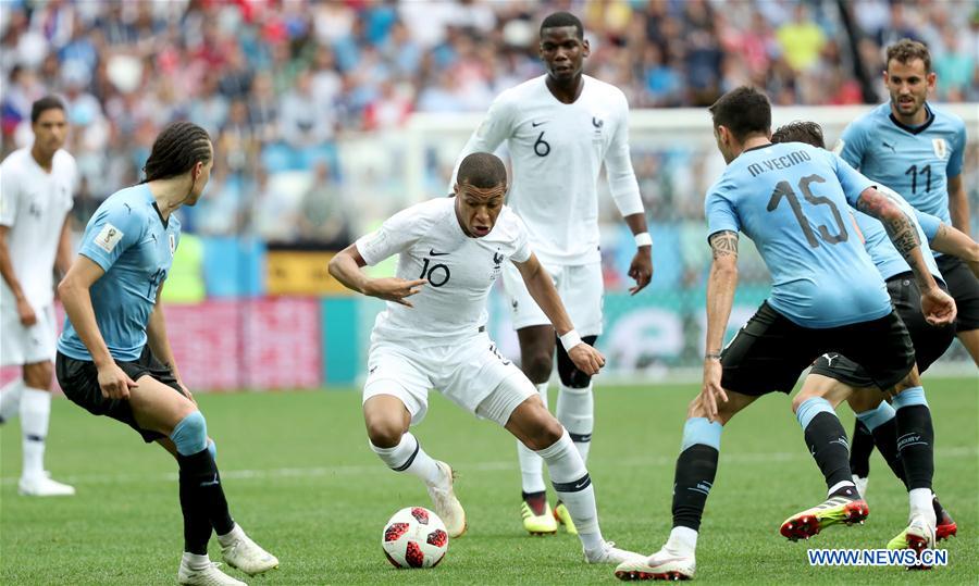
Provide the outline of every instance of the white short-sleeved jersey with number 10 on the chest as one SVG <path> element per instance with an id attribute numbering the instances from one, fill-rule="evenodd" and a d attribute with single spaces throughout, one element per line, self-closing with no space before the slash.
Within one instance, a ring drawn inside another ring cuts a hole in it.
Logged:
<path id="1" fill-rule="evenodd" d="M 399 254 L 398 277 L 429 279 L 407 298 L 414 307 L 387 302 L 374 322 L 372 339 L 432 347 L 478 334 L 486 325 L 486 296 L 503 263 L 530 259 L 526 227 L 507 207 L 490 234 L 472 238 L 462 232 L 455 205 L 455 198 L 423 201 L 357 240 L 368 264 Z"/>

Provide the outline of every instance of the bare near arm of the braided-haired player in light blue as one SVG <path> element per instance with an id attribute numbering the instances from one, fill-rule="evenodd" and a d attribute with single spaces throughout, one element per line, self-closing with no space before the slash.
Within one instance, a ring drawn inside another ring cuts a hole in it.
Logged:
<path id="1" fill-rule="evenodd" d="M 91 354 L 91 360 L 99 371 L 102 395 L 110 399 L 127 399 L 129 389 L 136 388 L 136 383 L 119 367 L 109 353 L 109 347 L 106 346 L 102 333 L 99 332 L 95 310 L 91 307 L 91 286 L 104 274 L 106 272 L 95 261 L 79 254 L 58 285 L 58 295 L 72 326 L 88 348 L 88 353 Z"/>

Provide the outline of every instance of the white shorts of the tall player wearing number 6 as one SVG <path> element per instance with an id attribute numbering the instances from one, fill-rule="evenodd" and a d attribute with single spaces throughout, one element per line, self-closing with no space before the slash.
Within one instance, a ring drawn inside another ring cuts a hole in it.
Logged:
<path id="1" fill-rule="evenodd" d="M 602 335 L 602 263 L 544 265 L 565 303 L 565 310 L 581 336 Z M 513 329 L 550 325 L 550 320 L 526 290 L 517 266 L 508 262 L 503 272 L 504 288 L 510 302 Z"/>

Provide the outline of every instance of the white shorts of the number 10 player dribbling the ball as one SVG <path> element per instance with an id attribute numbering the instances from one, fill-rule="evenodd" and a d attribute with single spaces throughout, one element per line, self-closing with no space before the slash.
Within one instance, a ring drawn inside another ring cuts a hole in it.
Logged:
<path id="1" fill-rule="evenodd" d="M 410 348 L 377 340 L 368 357 L 363 402 L 379 395 L 400 399 L 420 423 L 436 389 L 466 411 L 506 425 L 517 407 L 537 394 L 533 383 L 496 349 L 485 333 L 453 346 Z"/>

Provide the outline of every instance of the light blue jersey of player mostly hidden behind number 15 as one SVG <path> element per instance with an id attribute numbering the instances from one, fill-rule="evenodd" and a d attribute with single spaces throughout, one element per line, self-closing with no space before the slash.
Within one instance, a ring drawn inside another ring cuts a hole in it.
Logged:
<path id="1" fill-rule="evenodd" d="M 878 185 L 877 190 L 888 196 L 888 199 L 901 208 L 901 211 L 903 211 L 908 220 L 915 225 L 915 228 L 918 230 L 918 240 L 921 242 L 921 254 L 925 257 L 925 264 L 928 265 L 928 271 L 934 278 L 944 282 L 942 273 L 939 271 L 938 263 L 934 262 L 934 255 L 931 253 L 931 248 L 928 246 L 928 242 L 933 240 L 938 234 L 942 221 L 934 215 L 912 208 L 904 198 L 883 185 Z M 894 275 L 910 271 L 907 261 L 905 261 L 904 257 L 902 257 L 901 253 L 897 252 L 897 249 L 894 248 L 894 245 L 888 237 L 887 229 L 884 229 L 883 224 L 881 224 L 879 220 L 858 210 L 853 210 L 853 215 L 856 219 L 857 225 L 860 227 L 860 232 L 864 233 L 864 239 L 866 240 L 864 247 L 867 249 L 867 253 L 870 254 L 870 259 L 873 261 L 873 264 L 880 272 L 880 276 L 883 277 L 884 280 Z"/>

